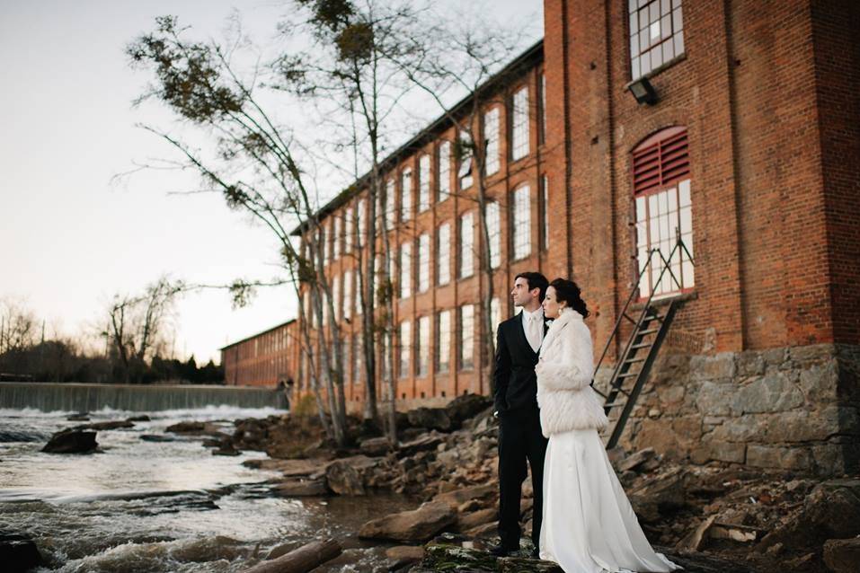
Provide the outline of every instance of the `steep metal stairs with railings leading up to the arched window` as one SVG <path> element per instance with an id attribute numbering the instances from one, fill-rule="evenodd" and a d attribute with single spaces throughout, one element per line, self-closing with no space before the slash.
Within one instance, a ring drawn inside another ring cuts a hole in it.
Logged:
<path id="1" fill-rule="evenodd" d="M 603 354 L 598 360 L 598 366 L 595 368 L 595 372 L 597 372 L 607 357 L 609 347 L 614 340 L 617 341 L 621 336 L 621 325 L 625 321 L 632 324 L 633 327 L 630 336 L 621 351 L 612 375 L 609 377 L 607 392 L 600 392 L 595 388 L 595 391 L 604 398 L 603 408 L 607 416 L 609 416 L 607 449 L 611 449 L 618 444 L 618 440 L 624 432 L 627 419 L 630 418 L 630 414 L 636 405 L 636 400 L 648 381 L 648 375 L 651 374 L 654 360 L 660 352 L 663 341 L 666 339 L 666 334 L 669 332 L 669 327 L 681 304 L 681 301 L 678 299 L 670 299 L 669 301 L 661 299 L 660 304 L 655 304 L 654 302 L 657 286 L 661 284 L 661 279 L 667 271 L 678 289 L 681 288 L 678 277 L 675 276 L 669 265 L 669 260 L 673 260 L 678 250 L 686 253 L 688 260 L 692 262 L 693 258 L 690 256 L 689 251 L 687 251 L 684 242 L 680 239 L 678 239 L 675 247 L 669 253 L 669 257 L 665 257 L 659 249 L 651 251 L 648 263 L 643 266 L 639 274 L 639 279 L 627 297 L 627 302 L 618 316 L 615 328 L 609 335 L 607 344 L 603 348 Z M 679 252 L 678 255 L 682 253 Z M 639 315 L 631 316 L 631 306 L 636 299 L 636 295 L 640 293 L 639 286 L 642 284 L 641 279 L 643 274 L 651 267 L 655 254 L 659 255 L 661 259 L 661 271 L 657 278 L 652 280 L 653 287 L 651 293 L 649 293 L 647 300 L 644 301 Z M 593 386 L 594 382 L 592 381 L 591 384 Z M 613 410 L 618 409 L 620 409 L 620 413 L 617 417 L 610 415 L 614 413 Z"/>

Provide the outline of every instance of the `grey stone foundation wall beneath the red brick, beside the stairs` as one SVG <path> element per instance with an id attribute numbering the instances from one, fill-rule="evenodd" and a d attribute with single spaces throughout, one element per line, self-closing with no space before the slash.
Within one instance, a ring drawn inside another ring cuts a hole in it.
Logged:
<path id="1" fill-rule="evenodd" d="M 602 369 L 597 385 L 611 372 Z M 818 475 L 860 470 L 860 347 L 700 356 L 663 348 L 627 421 L 625 449 Z"/>

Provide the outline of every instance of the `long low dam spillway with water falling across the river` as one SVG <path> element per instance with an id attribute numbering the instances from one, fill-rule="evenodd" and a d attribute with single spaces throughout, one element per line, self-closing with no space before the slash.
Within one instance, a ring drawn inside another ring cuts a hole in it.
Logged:
<path id="1" fill-rule="evenodd" d="M 207 406 L 286 409 L 275 388 L 203 384 L 0 382 L 0 408 L 50 411 L 191 410 Z"/>

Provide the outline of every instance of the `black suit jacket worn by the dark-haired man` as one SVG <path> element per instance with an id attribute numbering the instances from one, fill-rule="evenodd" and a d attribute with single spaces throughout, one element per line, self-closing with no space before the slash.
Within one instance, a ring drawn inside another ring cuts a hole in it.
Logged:
<path id="1" fill-rule="evenodd" d="M 544 321 L 544 336 L 547 328 Z M 492 372 L 492 397 L 500 414 L 521 408 L 537 408 L 536 364 L 537 353 L 526 339 L 522 313 L 501 322 Z"/>

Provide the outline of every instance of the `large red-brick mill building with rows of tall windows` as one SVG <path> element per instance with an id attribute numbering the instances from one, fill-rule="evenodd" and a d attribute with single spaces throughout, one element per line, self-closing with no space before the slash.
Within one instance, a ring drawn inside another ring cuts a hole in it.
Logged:
<path id="1" fill-rule="evenodd" d="M 857 30 L 860 4 L 848 1 L 546 0 L 544 40 L 492 82 L 502 102 L 484 110 L 482 132 L 498 229 L 493 323 L 516 312 L 507 294 L 523 270 L 581 285 L 597 355 L 634 287 L 631 312 L 652 290 L 677 308 L 622 445 L 694 463 L 856 470 Z M 439 119 L 385 164 L 402 408 L 489 392 L 481 239 L 456 137 Z M 366 203 L 324 207 L 326 273 L 355 335 L 343 234 L 363 227 L 344 221 Z M 678 236 L 695 266 L 679 251 L 658 278 L 649 253 L 668 256 Z M 609 345 L 610 365 L 626 336 Z M 356 404 L 361 353 L 344 340 Z"/>

